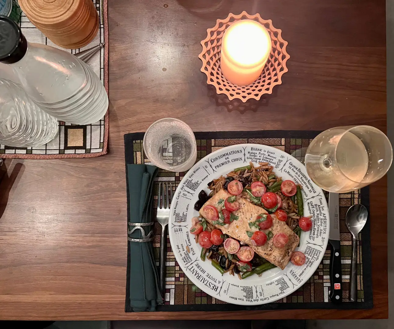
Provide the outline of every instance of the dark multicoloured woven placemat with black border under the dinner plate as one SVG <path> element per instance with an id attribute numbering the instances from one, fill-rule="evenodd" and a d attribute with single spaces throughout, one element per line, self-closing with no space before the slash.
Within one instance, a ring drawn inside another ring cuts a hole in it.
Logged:
<path id="1" fill-rule="evenodd" d="M 195 132 L 197 140 L 197 161 L 207 154 L 221 149 L 222 147 L 241 144 L 256 143 L 276 147 L 292 154 L 298 160 L 305 157 L 305 151 L 310 141 L 318 134 L 316 131 L 282 131 L 266 130 L 251 132 Z M 144 133 L 125 135 L 125 160 L 127 164 L 151 164 L 143 152 L 142 139 Z M 160 182 L 176 186 L 184 177 L 185 173 L 172 173 L 160 169 L 154 186 L 154 211 L 157 207 L 158 185 Z M 328 202 L 328 193 L 326 193 Z M 198 289 L 184 274 L 175 260 L 169 238 L 167 238 L 167 274 L 166 294 L 164 305 L 160 305 L 157 311 L 236 311 L 236 310 L 270 310 L 270 309 L 369 309 L 373 307 L 372 301 L 372 268 L 370 247 L 370 222 L 367 221 L 359 235 L 358 245 L 358 292 L 357 303 L 349 301 L 349 276 L 351 263 L 351 234 L 345 224 L 345 215 L 353 204 L 361 203 L 366 206 L 369 213 L 369 188 L 364 187 L 359 191 L 342 193 L 339 197 L 340 206 L 340 239 L 341 239 L 341 263 L 342 263 L 342 289 L 343 301 L 333 304 L 329 300 L 330 277 L 329 263 L 331 245 L 328 244 L 322 263 L 314 275 L 297 291 L 273 303 L 258 306 L 242 306 L 228 304 Z M 154 217 L 155 218 L 155 217 Z M 125 223 L 127 230 L 127 223 Z M 158 265 L 161 226 L 157 222 L 154 225 L 153 247 Z M 130 276 L 130 252 L 127 255 L 127 274 Z M 129 296 L 130 280 L 126 281 L 126 312 L 131 312 Z"/>

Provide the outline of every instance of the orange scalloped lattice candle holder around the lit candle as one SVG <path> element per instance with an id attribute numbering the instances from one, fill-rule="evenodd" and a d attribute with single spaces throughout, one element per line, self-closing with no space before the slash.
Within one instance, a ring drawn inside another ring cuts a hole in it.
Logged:
<path id="1" fill-rule="evenodd" d="M 241 19 L 251 19 L 262 24 L 271 36 L 272 49 L 260 77 L 247 86 L 234 85 L 228 81 L 220 70 L 221 42 L 225 30 Z M 216 88 L 217 94 L 226 94 L 230 100 L 241 99 L 244 103 L 250 99 L 260 99 L 264 94 L 271 94 L 272 88 L 282 83 L 282 75 L 287 72 L 286 61 L 290 55 L 286 52 L 287 41 L 282 39 L 282 30 L 275 29 L 271 20 L 264 20 L 260 14 L 249 15 L 243 11 L 240 15 L 232 13 L 226 19 L 218 19 L 208 35 L 201 41 L 203 51 L 198 56 L 203 61 L 201 72 L 206 74 L 208 85 Z"/>

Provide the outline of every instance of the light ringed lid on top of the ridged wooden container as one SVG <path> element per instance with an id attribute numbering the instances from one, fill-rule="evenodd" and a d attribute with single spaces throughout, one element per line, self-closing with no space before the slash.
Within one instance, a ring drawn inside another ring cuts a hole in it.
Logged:
<path id="1" fill-rule="evenodd" d="M 54 29 L 74 24 L 81 11 L 90 9 L 87 0 L 19 0 L 19 5 L 34 25 Z"/>

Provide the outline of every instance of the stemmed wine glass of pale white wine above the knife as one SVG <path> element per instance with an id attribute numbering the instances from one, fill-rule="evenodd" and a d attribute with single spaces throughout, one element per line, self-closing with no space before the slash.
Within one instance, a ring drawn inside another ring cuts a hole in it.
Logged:
<path id="1" fill-rule="evenodd" d="M 305 154 L 305 167 L 322 189 L 345 193 L 383 177 L 392 158 L 390 141 L 379 129 L 335 127 L 312 140 Z"/>

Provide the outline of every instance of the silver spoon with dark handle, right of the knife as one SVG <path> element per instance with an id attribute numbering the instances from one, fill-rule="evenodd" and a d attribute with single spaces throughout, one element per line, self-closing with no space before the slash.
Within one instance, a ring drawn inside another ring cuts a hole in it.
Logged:
<path id="1" fill-rule="evenodd" d="M 351 206 L 346 213 L 346 226 L 353 235 L 351 239 L 350 301 L 357 301 L 357 239 L 367 218 L 367 208 L 362 204 Z"/>

